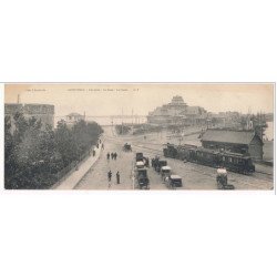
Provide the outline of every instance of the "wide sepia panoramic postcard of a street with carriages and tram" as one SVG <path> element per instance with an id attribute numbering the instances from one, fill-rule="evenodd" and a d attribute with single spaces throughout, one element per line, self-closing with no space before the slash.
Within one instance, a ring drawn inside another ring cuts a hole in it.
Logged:
<path id="1" fill-rule="evenodd" d="M 10 83 L 6 189 L 274 185 L 274 83 Z"/>

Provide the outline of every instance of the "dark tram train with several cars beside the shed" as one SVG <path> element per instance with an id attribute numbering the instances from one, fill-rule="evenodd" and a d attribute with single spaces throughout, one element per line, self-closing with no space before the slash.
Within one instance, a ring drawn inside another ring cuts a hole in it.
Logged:
<path id="1" fill-rule="evenodd" d="M 195 145 L 176 146 L 173 144 L 166 144 L 163 152 L 166 157 L 178 158 L 184 162 L 198 163 L 212 167 L 224 166 L 228 171 L 242 174 L 255 172 L 252 157 L 238 153 L 209 150 Z"/>

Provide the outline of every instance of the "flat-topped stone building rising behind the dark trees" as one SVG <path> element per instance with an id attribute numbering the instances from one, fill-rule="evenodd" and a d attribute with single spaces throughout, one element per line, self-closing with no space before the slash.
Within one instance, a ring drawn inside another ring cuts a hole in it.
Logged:
<path id="1" fill-rule="evenodd" d="M 14 130 L 13 116 L 16 113 L 21 113 L 28 120 L 34 117 L 40 120 L 42 126 L 50 125 L 54 127 L 54 105 L 48 104 L 4 104 L 4 116 L 8 116 L 11 122 L 11 129 Z"/>

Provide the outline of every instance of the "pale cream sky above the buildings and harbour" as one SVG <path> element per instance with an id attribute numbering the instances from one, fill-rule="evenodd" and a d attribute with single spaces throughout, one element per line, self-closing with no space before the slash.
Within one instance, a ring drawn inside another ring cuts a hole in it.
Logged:
<path id="1" fill-rule="evenodd" d="M 55 116 L 71 112 L 86 115 L 146 115 L 181 95 L 187 105 L 208 112 L 274 112 L 270 83 L 55 83 L 6 84 L 4 102 L 53 104 Z"/>

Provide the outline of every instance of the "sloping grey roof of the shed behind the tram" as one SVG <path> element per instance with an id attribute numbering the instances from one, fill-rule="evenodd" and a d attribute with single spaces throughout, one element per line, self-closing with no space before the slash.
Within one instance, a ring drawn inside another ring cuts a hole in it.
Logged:
<path id="1" fill-rule="evenodd" d="M 202 142 L 223 142 L 248 145 L 254 137 L 255 133 L 253 131 L 208 129 L 203 134 Z"/>

